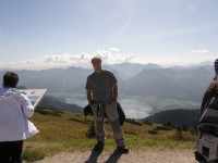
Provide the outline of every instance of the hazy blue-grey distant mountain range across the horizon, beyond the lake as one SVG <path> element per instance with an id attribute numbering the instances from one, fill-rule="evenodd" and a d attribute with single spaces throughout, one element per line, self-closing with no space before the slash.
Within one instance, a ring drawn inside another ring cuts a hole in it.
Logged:
<path id="1" fill-rule="evenodd" d="M 190 67 L 161 67 L 157 64 L 121 63 L 102 65 L 111 70 L 123 95 L 157 96 L 180 100 L 199 101 L 214 77 L 211 65 Z M 5 71 L 0 71 L 2 76 Z M 82 67 L 51 68 L 41 71 L 14 71 L 20 86 L 47 88 L 50 92 L 85 93 L 85 83 L 93 70 Z M 2 82 L 2 78 L 0 78 Z"/>

